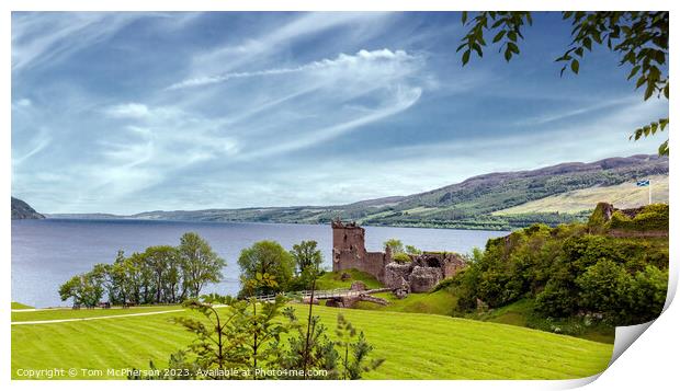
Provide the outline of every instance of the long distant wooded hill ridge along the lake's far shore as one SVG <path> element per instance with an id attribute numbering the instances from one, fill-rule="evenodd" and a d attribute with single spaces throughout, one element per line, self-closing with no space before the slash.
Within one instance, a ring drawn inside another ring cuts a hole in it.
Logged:
<path id="1" fill-rule="evenodd" d="M 491 173 L 424 193 L 369 199 L 348 205 L 156 210 L 118 218 L 328 223 L 339 217 L 373 226 L 510 229 L 533 222 L 555 225 L 575 219 L 582 220 L 588 214 L 495 212 L 555 195 L 621 185 L 650 175 L 668 175 L 668 158 L 638 154 L 592 163 L 573 162 L 531 171 Z M 592 204 L 592 208 L 596 204 Z M 64 216 L 54 215 L 54 217 Z M 68 217 L 76 216 L 68 215 Z"/>

